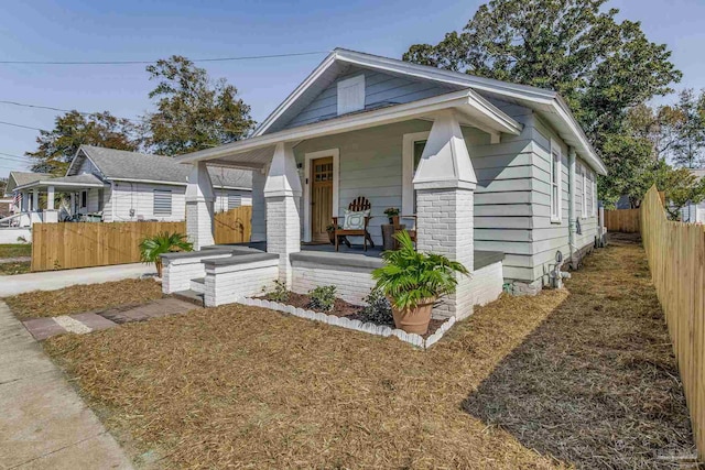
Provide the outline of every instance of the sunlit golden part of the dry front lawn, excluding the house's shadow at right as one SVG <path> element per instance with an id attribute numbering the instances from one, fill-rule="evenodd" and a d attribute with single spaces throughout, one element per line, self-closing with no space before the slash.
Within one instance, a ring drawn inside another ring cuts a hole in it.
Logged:
<path id="1" fill-rule="evenodd" d="M 588 263 L 585 275 L 598 276 L 593 270 Z M 573 284 L 588 296 L 581 275 Z M 538 453 L 463 403 L 552 313 L 585 314 L 568 298 L 565 291 L 502 297 L 427 352 L 243 306 L 44 345 L 142 466 L 555 468 L 581 462 Z M 610 331 L 603 321 L 599 336 Z M 561 371 L 544 373 L 556 383 Z M 654 412 L 663 426 L 668 408 Z"/>

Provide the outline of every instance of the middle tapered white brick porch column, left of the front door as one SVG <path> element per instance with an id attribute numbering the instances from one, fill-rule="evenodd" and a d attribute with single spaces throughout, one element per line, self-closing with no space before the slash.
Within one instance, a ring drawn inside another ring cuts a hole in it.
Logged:
<path id="1" fill-rule="evenodd" d="M 267 201 L 267 251 L 279 254 L 279 278 L 291 288 L 289 255 L 301 251 L 301 179 L 290 143 L 278 143 L 264 183 Z"/>

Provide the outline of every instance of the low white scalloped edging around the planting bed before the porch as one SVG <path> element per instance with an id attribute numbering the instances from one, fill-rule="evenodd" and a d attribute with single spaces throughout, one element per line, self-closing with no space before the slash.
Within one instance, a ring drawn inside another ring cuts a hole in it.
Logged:
<path id="1" fill-rule="evenodd" d="M 305 308 L 297 308 L 297 307 L 294 307 L 293 305 L 284 305 L 278 302 L 270 302 L 261 298 L 241 297 L 235 302 L 238 304 L 248 305 L 251 307 L 269 308 L 270 310 L 281 311 L 283 314 L 290 314 L 295 317 L 306 318 L 314 321 L 321 321 L 326 325 L 333 325 L 340 328 L 362 331 L 370 335 L 382 336 L 386 338 L 390 336 L 395 336 L 400 340 L 424 350 L 431 348 L 433 345 L 438 342 L 438 340 L 443 338 L 443 335 L 445 335 L 445 332 L 449 330 L 453 325 L 455 325 L 455 317 L 451 317 L 447 320 L 445 320 L 443 325 L 441 325 L 433 335 L 424 339 L 420 335 L 408 334 L 406 331 L 400 330 L 398 328 L 391 328 L 384 325 L 376 325 L 371 323 L 364 323 L 360 320 L 350 320 L 349 318 L 346 318 L 346 317 L 338 317 L 335 315 L 327 315 L 318 311 L 306 310 Z"/>

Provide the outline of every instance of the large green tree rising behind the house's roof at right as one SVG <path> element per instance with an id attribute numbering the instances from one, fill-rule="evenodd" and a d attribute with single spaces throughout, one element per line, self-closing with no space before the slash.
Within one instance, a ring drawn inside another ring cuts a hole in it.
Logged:
<path id="1" fill-rule="evenodd" d="M 403 58 L 558 91 L 606 160 L 600 198 L 615 198 L 626 184 L 610 179 L 622 179 L 620 171 L 638 167 L 644 156 L 640 143 L 630 146 L 628 111 L 671 92 L 681 73 L 665 45 L 648 41 L 638 22 L 617 22 L 618 10 L 600 11 L 605 2 L 492 0 L 463 32 L 447 33 L 436 45 L 412 45 Z"/>

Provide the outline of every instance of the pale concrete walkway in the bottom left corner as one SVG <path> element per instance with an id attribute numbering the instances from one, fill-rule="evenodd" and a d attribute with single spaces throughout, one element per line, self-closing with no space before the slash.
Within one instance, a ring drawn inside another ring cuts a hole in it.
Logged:
<path id="1" fill-rule="evenodd" d="M 0 469 L 131 469 L 61 370 L 0 302 Z"/>

